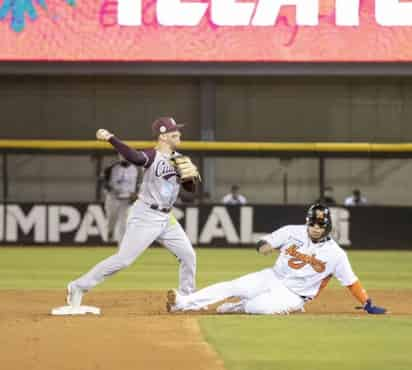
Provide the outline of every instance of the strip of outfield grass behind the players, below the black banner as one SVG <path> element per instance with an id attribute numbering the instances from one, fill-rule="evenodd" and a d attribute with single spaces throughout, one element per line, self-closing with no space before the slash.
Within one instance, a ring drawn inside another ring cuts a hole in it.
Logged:
<path id="1" fill-rule="evenodd" d="M 115 248 L 0 248 L 0 289 L 61 289 L 115 253 Z M 197 249 L 198 286 L 271 266 L 275 256 L 253 249 Z M 354 271 L 369 289 L 412 289 L 412 252 L 351 251 Z M 159 290 L 177 286 L 177 261 L 164 248 L 148 249 L 131 267 L 97 289 Z M 337 287 L 334 281 L 331 287 Z"/>

